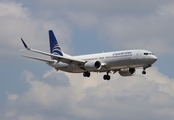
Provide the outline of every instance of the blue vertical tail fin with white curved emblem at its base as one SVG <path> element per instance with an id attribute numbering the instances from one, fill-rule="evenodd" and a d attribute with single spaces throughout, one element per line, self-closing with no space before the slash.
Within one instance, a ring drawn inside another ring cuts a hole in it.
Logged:
<path id="1" fill-rule="evenodd" d="M 49 40 L 50 40 L 50 53 L 63 56 L 61 47 L 59 46 L 57 39 L 52 30 L 49 30 Z"/>

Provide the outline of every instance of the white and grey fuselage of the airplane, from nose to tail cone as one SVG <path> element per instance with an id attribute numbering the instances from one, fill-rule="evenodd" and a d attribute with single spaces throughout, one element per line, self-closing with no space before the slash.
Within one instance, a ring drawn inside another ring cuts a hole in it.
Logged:
<path id="1" fill-rule="evenodd" d="M 147 50 L 124 50 L 115 52 L 106 52 L 98 54 L 88 54 L 71 56 L 76 60 L 84 60 L 86 62 L 99 61 L 102 67 L 99 70 L 93 69 L 89 72 L 106 72 L 106 71 L 119 71 L 124 68 L 136 68 L 152 65 L 157 57 L 152 52 Z M 82 73 L 86 71 L 83 68 L 74 64 L 66 64 L 63 62 L 48 63 L 57 70 L 62 70 L 71 73 Z"/>

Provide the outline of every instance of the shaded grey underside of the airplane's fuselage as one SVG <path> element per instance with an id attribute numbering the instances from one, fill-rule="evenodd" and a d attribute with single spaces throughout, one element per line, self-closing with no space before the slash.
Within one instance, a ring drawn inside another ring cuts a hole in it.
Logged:
<path id="1" fill-rule="evenodd" d="M 108 70 L 119 70 L 124 68 L 131 68 L 131 67 L 142 67 L 145 65 L 147 60 L 141 59 L 110 59 L 107 61 L 100 61 L 101 63 L 105 63 L 106 66 L 103 66 L 100 70 L 93 70 L 89 72 L 105 72 Z M 52 67 L 56 68 L 57 70 L 62 70 L 70 73 L 82 73 L 86 70 L 74 65 L 74 64 L 66 64 L 66 63 L 57 63 L 51 65 Z"/>

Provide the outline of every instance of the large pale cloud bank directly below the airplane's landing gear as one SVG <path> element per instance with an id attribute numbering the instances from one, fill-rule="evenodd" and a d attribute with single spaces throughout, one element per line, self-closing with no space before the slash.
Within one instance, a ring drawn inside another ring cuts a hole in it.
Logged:
<path id="1" fill-rule="evenodd" d="M 88 79 L 80 74 L 66 73 L 66 84 L 70 84 L 68 86 L 53 86 L 42 80 L 52 79 L 52 75 L 56 76 L 55 71 L 48 71 L 43 75 L 44 78 L 35 78 L 32 73 L 25 71 L 24 76 L 30 87 L 18 99 L 14 99 L 15 102 L 8 106 L 7 113 L 15 108 L 17 111 L 11 115 L 14 118 L 29 119 L 34 116 L 43 120 L 170 120 L 174 117 L 173 79 L 159 73 L 157 68 L 148 69 L 145 76 L 139 70 L 133 77 L 114 74 L 110 81 L 102 80 L 103 74 L 93 73 Z M 62 72 L 57 73 L 55 79 L 66 80 L 63 76 Z"/>

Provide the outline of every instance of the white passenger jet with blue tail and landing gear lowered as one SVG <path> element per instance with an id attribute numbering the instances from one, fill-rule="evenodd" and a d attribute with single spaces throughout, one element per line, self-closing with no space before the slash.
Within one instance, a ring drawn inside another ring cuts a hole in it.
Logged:
<path id="1" fill-rule="evenodd" d="M 157 61 L 157 57 L 152 52 L 142 49 L 70 56 L 62 51 L 53 31 L 49 30 L 48 32 L 50 53 L 31 49 L 22 38 L 21 41 L 26 50 L 50 56 L 51 59 L 26 55 L 22 56 L 46 62 L 57 71 L 83 73 L 84 77 L 90 77 L 91 72 L 106 72 L 103 76 L 104 80 L 110 80 L 109 74 L 116 72 L 121 76 L 133 76 L 136 72 L 136 68 L 143 68 L 142 74 L 146 74 L 145 70 Z"/>

